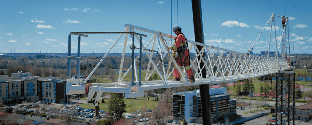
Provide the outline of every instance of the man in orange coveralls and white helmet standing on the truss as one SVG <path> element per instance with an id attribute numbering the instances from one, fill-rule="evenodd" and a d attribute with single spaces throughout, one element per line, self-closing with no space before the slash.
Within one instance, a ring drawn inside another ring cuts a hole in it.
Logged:
<path id="1" fill-rule="evenodd" d="M 181 28 L 179 26 L 174 26 L 172 28 L 172 31 L 177 35 L 174 39 L 174 45 L 171 47 L 168 47 L 168 49 L 173 50 L 173 58 L 175 58 L 175 61 L 177 62 L 179 68 L 182 66 L 185 67 L 187 76 L 188 76 L 188 82 L 194 83 L 195 78 L 193 75 L 193 71 L 190 67 L 190 53 L 187 46 L 187 39 L 185 38 L 184 34 L 181 32 Z M 177 57 L 175 57 L 175 53 L 178 53 Z M 174 81 L 180 81 L 180 72 L 176 67 L 173 69 L 173 76 Z"/>

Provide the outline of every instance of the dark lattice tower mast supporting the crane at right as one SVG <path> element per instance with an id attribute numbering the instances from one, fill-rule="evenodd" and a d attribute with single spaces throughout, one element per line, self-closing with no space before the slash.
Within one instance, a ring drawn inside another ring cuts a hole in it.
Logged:
<path id="1" fill-rule="evenodd" d="M 295 123 L 295 72 L 279 71 L 276 75 L 275 124 Z M 291 120 L 291 122 L 290 122 Z"/>

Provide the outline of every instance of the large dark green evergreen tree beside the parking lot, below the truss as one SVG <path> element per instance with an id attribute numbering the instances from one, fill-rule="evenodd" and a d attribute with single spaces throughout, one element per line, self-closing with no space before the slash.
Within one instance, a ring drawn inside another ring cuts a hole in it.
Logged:
<path id="1" fill-rule="evenodd" d="M 126 104 L 124 104 L 124 97 L 122 93 L 111 93 L 111 99 L 109 101 L 110 107 L 108 108 L 109 116 L 116 121 L 123 118 L 123 113 L 126 112 Z M 114 115 L 114 113 L 116 113 Z"/>

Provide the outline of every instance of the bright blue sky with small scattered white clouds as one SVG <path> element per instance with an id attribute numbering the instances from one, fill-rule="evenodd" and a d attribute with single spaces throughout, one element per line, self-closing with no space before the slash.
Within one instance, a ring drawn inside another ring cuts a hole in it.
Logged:
<path id="1" fill-rule="evenodd" d="M 202 0 L 201 3 L 207 45 L 246 53 L 274 12 L 276 15 L 289 17 L 295 53 L 312 53 L 312 1 Z M 16 53 L 66 53 L 70 32 L 123 31 L 125 23 L 166 34 L 173 34 L 172 26 L 178 24 L 188 39 L 195 40 L 190 0 L 172 0 L 172 4 L 171 0 L 12 0 L 2 1 L 0 13 L 0 53 L 10 53 L 11 49 L 12 52 L 15 49 Z M 270 24 L 271 22 L 267 27 Z M 280 38 L 280 17 L 275 16 L 275 25 L 279 27 L 276 35 Z M 263 31 L 254 46 L 254 53 L 268 50 L 269 34 L 269 30 Z M 146 35 L 148 37 L 143 38 L 144 43 L 152 37 L 152 34 Z M 81 39 L 81 51 L 105 53 L 118 36 L 89 34 L 89 37 Z M 274 33 L 272 40 L 273 38 Z M 72 53 L 77 52 L 77 39 L 77 36 L 72 36 Z M 292 44 L 292 39 L 290 40 Z M 124 37 L 121 41 L 124 41 Z M 123 45 L 117 44 L 112 51 L 121 53 L 120 47 Z M 270 51 L 275 50 L 273 40 Z"/>

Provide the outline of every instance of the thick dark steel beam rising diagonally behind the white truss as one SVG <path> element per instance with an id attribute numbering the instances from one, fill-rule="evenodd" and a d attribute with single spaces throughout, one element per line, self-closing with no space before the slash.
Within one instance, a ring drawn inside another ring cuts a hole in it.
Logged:
<path id="1" fill-rule="evenodd" d="M 193 10 L 193 22 L 194 22 L 194 32 L 195 32 L 195 41 L 199 43 L 204 43 L 204 33 L 202 27 L 202 9 L 200 0 L 192 0 L 192 10 Z M 203 49 L 202 46 L 196 45 L 198 50 L 201 51 Z M 197 55 L 198 52 L 196 52 Z M 205 53 L 205 52 L 203 52 Z M 203 57 L 198 57 L 198 60 Z M 202 78 L 206 77 L 206 68 L 200 71 L 205 66 L 203 61 L 199 62 L 198 72 L 201 72 Z M 209 70 L 209 69 L 208 69 Z M 210 110 L 210 94 L 209 94 L 209 84 L 199 85 L 200 90 L 200 98 L 202 103 L 202 122 L 203 125 L 211 125 L 211 110 Z"/>

